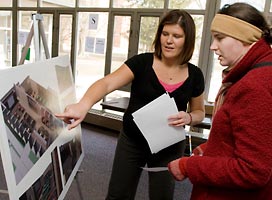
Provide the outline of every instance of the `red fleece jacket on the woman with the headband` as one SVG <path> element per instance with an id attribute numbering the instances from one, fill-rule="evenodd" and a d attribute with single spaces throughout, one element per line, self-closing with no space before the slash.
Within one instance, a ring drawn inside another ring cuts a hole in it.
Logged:
<path id="1" fill-rule="evenodd" d="M 272 199 L 272 50 L 257 42 L 224 82 L 203 156 L 186 160 L 191 199 Z M 265 66 L 251 69 L 254 65 Z M 182 159 L 181 159 L 182 162 Z M 184 163 L 183 163 L 184 165 Z"/>

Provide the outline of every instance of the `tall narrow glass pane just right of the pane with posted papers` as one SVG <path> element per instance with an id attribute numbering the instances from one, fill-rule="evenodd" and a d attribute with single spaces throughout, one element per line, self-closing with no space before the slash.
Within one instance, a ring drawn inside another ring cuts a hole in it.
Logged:
<path id="1" fill-rule="evenodd" d="M 128 58 L 130 20 L 130 16 L 114 17 L 111 72 Z"/>

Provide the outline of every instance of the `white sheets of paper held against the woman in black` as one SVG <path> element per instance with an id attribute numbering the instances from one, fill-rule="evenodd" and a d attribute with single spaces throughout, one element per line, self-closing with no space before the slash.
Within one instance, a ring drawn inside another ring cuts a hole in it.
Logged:
<path id="1" fill-rule="evenodd" d="M 175 100 L 166 93 L 132 113 L 152 153 L 185 139 L 183 127 L 168 125 L 168 117 L 176 113 Z"/>

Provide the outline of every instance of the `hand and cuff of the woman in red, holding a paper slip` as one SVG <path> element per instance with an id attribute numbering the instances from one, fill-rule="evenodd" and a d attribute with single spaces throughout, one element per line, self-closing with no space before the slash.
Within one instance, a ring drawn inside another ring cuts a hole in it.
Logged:
<path id="1" fill-rule="evenodd" d="M 173 175 L 173 177 L 182 181 L 187 177 L 186 173 L 186 162 L 188 157 L 179 158 L 168 163 L 168 170 Z"/>

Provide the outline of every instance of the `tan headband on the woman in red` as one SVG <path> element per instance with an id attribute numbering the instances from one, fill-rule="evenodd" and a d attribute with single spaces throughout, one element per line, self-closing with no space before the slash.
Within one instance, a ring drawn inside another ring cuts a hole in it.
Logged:
<path id="1" fill-rule="evenodd" d="M 262 37 L 262 30 L 252 24 L 224 14 L 216 14 L 211 31 L 226 34 L 242 42 L 252 44 Z"/>

